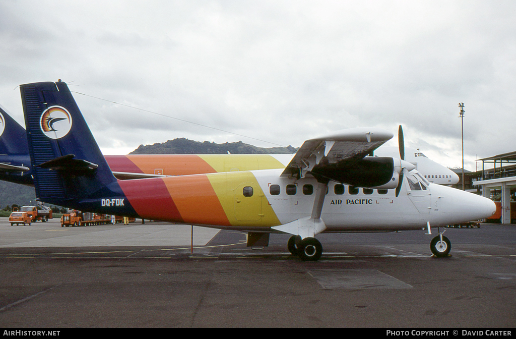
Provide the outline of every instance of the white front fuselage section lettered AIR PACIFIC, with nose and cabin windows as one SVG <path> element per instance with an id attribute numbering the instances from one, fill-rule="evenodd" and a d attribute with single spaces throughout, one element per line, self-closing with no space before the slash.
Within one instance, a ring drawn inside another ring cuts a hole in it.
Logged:
<path id="1" fill-rule="evenodd" d="M 252 173 L 281 224 L 310 216 L 315 192 L 304 194 L 303 186 L 315 188 L 314 178 L 280 177 L 278 169 Z M 430 183 L 416 173 L 412 171 L 409 178 L 404 178 L 398 197 L 394 189 L 351 188 L 350 191 L 347 185 L 330 182 L 321 213 L 327 227 L 325 232 L 421 229 L 428 222 L 431 226 L 445 226 L 487 218 L 496 209 L 490 199 Z M 409 184 L 408 180 L 416 182 Z M 271 194 L 272 185 L 280 187 L 278 195 Z M 291 190 L 292 195 L 288 195 L 287 185 L 296 186 L 296 193 L 292 194 Z"/>

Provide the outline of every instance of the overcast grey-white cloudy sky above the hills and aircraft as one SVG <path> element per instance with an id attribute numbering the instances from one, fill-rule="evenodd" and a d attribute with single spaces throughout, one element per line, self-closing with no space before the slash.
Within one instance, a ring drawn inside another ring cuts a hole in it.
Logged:
<path id="1" fill-rule="evenodd" d="M 459 102 L 466 169 L 516 151 L 513 0 L 3 0 L 0 13 L 0 104 L 23 126 L 18 85 L 62 79 L 106 154 L 401 124 L 407 147 L 460 167 Z"/>

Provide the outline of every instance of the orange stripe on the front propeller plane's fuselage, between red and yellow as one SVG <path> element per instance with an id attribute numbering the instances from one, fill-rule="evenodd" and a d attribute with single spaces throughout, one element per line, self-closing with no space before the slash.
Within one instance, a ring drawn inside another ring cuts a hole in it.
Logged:
<path id="1" fill-rule="evenodd" d="M 163 181 L 185 223 L 231 225 L 206 175 L 167 177 Z"/>

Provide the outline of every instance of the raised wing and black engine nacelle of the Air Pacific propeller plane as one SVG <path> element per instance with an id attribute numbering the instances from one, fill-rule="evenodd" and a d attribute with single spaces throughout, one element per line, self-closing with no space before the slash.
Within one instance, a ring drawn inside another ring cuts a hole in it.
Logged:
<path id="1" fill-rule="evenodd" d="M 320 180 L 380 186 L 385 182 L 375 183 L 388 181 L 392 177 L 393 165 L 389 164 L 392 158 L 364 158 L 393 136 L 391 132 L 379 128 L 352 128 L 307 140 L 281 176 L 304 178 L 311 174 Z M 388 168 L 382 171 L 379 167 Z M 383 172 L 382 178 L 376 178 L 379 172 Z M 369 182 L 371 178 L 374 182 Z M 362 179 L 365 181 L 362 182 Z"/>

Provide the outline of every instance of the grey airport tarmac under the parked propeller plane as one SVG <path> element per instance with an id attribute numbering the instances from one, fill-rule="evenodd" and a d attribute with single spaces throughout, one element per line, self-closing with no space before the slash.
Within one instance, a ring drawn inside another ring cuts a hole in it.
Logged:
<path id="1" fill-rule="evenodd" d="M 244 233 L 193 227 L 192 251 L 191 230 L 0 218 L 0 327 L 453 331 L 516 323 L 514 225 L 446 229 L 446 258 L 431 255 L 423 231 L 322 234 L 316 262 L 290 255 L 282 234 L 250 249 Z"/>

